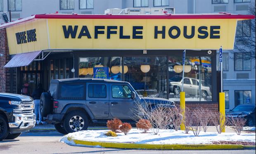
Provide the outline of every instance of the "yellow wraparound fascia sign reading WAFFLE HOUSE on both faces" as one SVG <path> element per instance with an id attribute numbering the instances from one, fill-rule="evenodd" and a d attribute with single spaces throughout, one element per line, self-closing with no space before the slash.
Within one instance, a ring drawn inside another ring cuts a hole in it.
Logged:
<path id="1" fill-rule="evenodd" d="M 221 45 L 232 50 L 236 25 L 237 19 L 37 19 L 7 28 L 7 38 L 10 54 L 48 49 L 217 50 Z"/>

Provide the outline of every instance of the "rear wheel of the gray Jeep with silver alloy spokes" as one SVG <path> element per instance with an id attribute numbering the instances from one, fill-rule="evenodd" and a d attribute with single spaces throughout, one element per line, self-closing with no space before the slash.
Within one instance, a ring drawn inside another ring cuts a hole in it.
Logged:
<path id="1" fill-rule="evenodd" d="M 81 111 L 72 111 L 64 118 L 63 128 L 67 133 L 72 133 L 79 130 L 87 130 L 88 124 L 89 121 L 86 114 Z"/>

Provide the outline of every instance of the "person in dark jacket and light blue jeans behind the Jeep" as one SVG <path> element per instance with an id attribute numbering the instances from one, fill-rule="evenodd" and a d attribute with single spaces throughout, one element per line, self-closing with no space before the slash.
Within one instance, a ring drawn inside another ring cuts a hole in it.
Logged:
<path id="1" fill-rule="evenodd" d="M 38 125 L 43 125 L 43 119 L 42 119 L 42 115 L 41 115 L 41 112 L 40 112 L 40 97 L 41 97 L 41 94 L 44 92 L 43 90 L 43 87 L 42 87 L 42 84 L 39 83 L 38 84 L 38 88 L 36 88 L 33 93 L 32 93 L 32 97 L 34 99 L 34 103 L 35 103 L 35 114 L 36 114 L 36 118 L 37 118 L 37 121 L 36 121 L 36 124 Z"/>

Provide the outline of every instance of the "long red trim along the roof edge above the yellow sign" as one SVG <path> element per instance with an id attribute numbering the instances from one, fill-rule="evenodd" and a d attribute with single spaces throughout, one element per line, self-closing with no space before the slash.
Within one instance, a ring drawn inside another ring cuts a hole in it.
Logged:
<path id="1" fill-rule="evenodd" d="M 36 19 L 254 19 L 254 15 L 239 14 L 164 14 L 164 15 L 111 15 L 111 14 L 36 14 Z"/>

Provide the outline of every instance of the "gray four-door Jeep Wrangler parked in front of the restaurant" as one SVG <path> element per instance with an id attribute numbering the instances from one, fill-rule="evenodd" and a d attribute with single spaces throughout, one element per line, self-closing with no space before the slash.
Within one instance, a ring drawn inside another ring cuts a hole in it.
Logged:
<path id="1" fill-rule="evenodd" d="M 51 81 L 49 91 L 41 95 L 40 111 L 56 130 L 66 134 L 88 126 L 106 126 L 107 120 L 113 118 L 133 125 L 136 102 L 175 107 L 167 99 L 140 97 L 128 82 L 69 78 Z"/>

